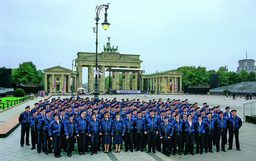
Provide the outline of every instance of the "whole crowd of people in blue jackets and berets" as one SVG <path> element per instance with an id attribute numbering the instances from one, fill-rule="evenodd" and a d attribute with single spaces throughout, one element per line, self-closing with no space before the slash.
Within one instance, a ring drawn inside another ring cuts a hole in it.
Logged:
<path id="1" fill-rule="evenodd" d="M 210 108 L 207 103 L 200 108 L 197 103 L 188 103 L 188 99 L 171 101 L 169 98 L 166 102 L 161 98 L 141 102 L 139 99 L 117 101 L 116 98 L 61 100 L 59 97 L 51 102 L 44 99 L 35 103 L 31 110 L 27 106 L 19 117 L 21 147 L 25 142 L 30 146 L 30 132 L 31 150 L 37 149 L 38 154 L 43 151 L 45 155 L 54 153 L 56 158 L 61 157 L 61 149 L 71 157 L 76 141 L 79 155 L 89 152 L 89 145 L 91 155 L 97 154 L 101 143 L 104 153 L 112 149 L 120 153 L 123 141 L 125 152 L 144 152 L 148 144 L 147 153 L 161 152 L 162 146 L 167 156 L 172 149 L 173 155 L 177 152 L 182 155 L 184 147 L 184 155 L 195 155 L 194 144 L 196 154 L 203 154 L 203 149 L 205 153 L 213 153 L 213 145 L 217 152 L 226 152 L 227 142 L 231 150 L 235 135 L 236 149 L 241 151 L 238 134 L 242 121 L 236 116 L 236 110 L 230 112 L 227 106 L 223 112 L 220 108 Z"/>

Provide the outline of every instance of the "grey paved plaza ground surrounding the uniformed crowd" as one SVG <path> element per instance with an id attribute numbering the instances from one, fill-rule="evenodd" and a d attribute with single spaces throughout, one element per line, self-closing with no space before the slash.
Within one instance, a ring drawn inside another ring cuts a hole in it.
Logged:
<path id="1" fill-rule="evenodd" d="M 52 98 L 57 98 L 60 95 L 52 96 Z M 89 97 L 92 98 L 93 95 L 85 95 L 81 96 L 83 98 Z M 147 95 L 147 97 L 144 97 L 144 95 L 100 95 L 100 98 L 108 98 L 112 100 L 114 97 L 117 97 L 117 100 L 121 100 L 124 98 L 125 100 L 128 98 L 130 99 L 137 99 L 139 98 L 140 101 L 145 100 L 152 100 L 159 98 L 162 98 L 162 100 L 165 102 L 167 98 L 172 99 L 180 99 L 185 100 L 188 99 L 189 103 L 198 103 L 199 107 L 202 107 L 202 103 L 207 102 L 207 104 L 210 107 L 220 105 L 221 110 L 225 111 L 226 106 L 230 106 L 230 110 L 236 109 L 237 110 L 237 116 L 243 119 L 243 103 L 248 102 L 254 102 L 256 100 L 245 100 L 244 98 L 236 98 L 236 100 L 233 100 L 232 98 L 227 98 L 225 96 L 210 96 L 210 95 L 172 95 L 172 94 L 163 94 L 163 95 Z M 69 96 L 62 95 L 61 99 L 63 98 L 69 98 Z M 10 119 L 12 116 L 19 114 L 21 111 L 25 111 L 25 107 L 27 105 L 33 105 L 35 102 L 38 102 L 41 100 L 40 97 L 36 98 L 35 100 L 27 101 L 23 104 L 19 104 L 15 107 L 11 107 L 8 110 L 1 111 L 0 112 L 0 124 Z M 36 149 L 30 150 L 31 146 L 24 147 L 20 146 L 20 135 L 21 135 L 21 127 L 19 126 L 16 130 L 14 130 L 8 137 L 6 138 L 0 138 L 0 145 L 1 145 L 1 151 L 0 151 L 0 160 L 28 160 L 28 161 L 40 161 L 40 160 L 104 160 L 104 161 L 110 161 L 110 160 L 145 160 L 145 161 L 155 161 L 155 160 L 164 160 L 164 161 L 171 161 L 171 160 L 255 160 L 256 157 L 256 125 L 243 122 L 243 126 L 239 130 L 239 142 L 240 142 L 240 148 L 242 151 L 237 151 L 235 149 L 235 142 L 233 140 L 233 149 L 227 152 L 220 151 L 219 153 L 216 152 L 216 147 L 213 146 L 214 153 L 203 153 L 202 155 L 196 154 L 195 156 L 192 156 L 188 154 L 187 156 L 184 156 L 184 153 L 182 153 L 182 156 L 176 155 L 173 156 L 172 152 L 170 154 L 170 157 L 164 156 L 162 153 L 156 151 L 156 154 L 153 153 L 146 153 L 147 150 L 145 149 L 144 152 L 127 152 L 125 153 L 125 150 L 121 150 L 121 153 L 114 153 L 110 152 L 108 154 L 104 154 L 103 152 L 98 152 L 98 154 L 94 154 L 93 156 L 90 155 L 90 153 L 86 153 L 86 155 L 80 156 L 78 154 L 77 145 L 75 143 L 75 150 L 72 153 L 72 157 L 68 157 L 66 153 L 63 151 L 61 152 L 62 157 L 61 158 L 55 158 L 53 154 L 45 155 L 43 152 L 40 154 L 37 154 Z M 31 144 L 31 142 L 30 142 Z M 228 149 L 228 144 L 225 146 L 226 150 Z M 124 144 L 123 144 L 124 148 Z M 102 150 L 102 148 L 101 148 Z M 194 148 L 195 152 L 195 148 Z"/>

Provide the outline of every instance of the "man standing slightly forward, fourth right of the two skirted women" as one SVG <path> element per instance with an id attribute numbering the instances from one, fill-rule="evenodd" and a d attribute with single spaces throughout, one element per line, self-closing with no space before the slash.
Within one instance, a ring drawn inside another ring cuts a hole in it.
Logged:
<path id="1" fill-rule="evenodd" d="M 173 135 L 174 127 L 172 123 L 168 122 L 169 118 L 166 116 L 164 117 L 164 122 L 161 123 L 158 127 L 160 139 L 163 142 L 163 154 L 167 157 L 170 156 L 171 151 L 171 137 Z"/>

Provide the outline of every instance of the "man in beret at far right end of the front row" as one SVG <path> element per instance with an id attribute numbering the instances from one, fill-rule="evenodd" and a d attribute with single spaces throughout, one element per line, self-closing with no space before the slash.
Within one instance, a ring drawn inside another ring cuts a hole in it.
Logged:
<path id="1" fill-rule="evenodd" d="M 232 149 L 233 137 L 235 135 L 235 146 L 236 146 L 236 149 L 238 151 L 241 151 L 240 145 L 239 145 L 238 135 L 239 135 L 239 129 L 242 126 L 242 120 L 241 120 L 241 118 L 236 116 L 236 110 L 235 109 L 232 110 L 231 113 L 232 113 L 232 116 L 229 117 L 228 121 L 227 121 L 228 134 L 229 134 L 229 138 L 228 138 L 229 147 L 228 147 L 228 150 Z"/>

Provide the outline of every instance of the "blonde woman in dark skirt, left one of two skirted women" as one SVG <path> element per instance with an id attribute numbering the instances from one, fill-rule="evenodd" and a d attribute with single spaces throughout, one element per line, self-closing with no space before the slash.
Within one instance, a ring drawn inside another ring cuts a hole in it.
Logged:
<path id="1" fill-rule="evenodd" d="M 109 118 L 110 114 L 106 112 L 104 114 L 104 118 L 100 120 L 100 125 L 102 129 L 102 135 L 103 135 L 103 144 L 105 151 L 104 153 L 108 153 L 109 144 L 111 143 L 111 123 L 112 119 Z"/>

